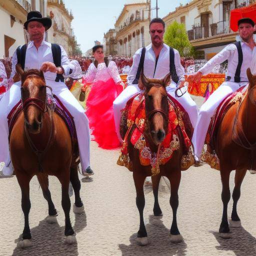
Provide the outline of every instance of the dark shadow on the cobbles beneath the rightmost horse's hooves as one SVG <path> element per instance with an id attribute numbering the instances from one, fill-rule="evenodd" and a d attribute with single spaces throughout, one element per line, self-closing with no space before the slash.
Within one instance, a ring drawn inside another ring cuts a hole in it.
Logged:
<path id="1" fill-rule="evenodd" d="M 216 246 L 217 250 L 233 251 L 237 256 L 249 256 L 256 255 L 256 238 L 247 232 L 242 226 L 236 228 L 230 228 L 232 237 L 229 239 L 223 239 L 218 232 L 212 232 L 219 246 Z"/>

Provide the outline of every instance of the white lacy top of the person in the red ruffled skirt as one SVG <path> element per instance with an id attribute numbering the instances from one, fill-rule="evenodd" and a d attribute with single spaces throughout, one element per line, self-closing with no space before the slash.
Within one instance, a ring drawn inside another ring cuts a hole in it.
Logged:
<path id="1" fill-rule="evenodd" d="M 107 81 L 110 78 L 113 78 L 115 83 L 122 81 L 114 61 L 109 61 L 108 66 L 105 62 L 98 63 L 97 67 L 94 63 L 90 63 L 84 76 L 86 82 Z"/>

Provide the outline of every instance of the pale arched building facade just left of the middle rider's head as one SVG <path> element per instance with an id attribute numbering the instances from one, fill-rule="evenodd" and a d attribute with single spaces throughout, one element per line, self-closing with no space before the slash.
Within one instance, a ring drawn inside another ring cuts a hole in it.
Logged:
<path id="1" fill-rule="evenodd" d="M 150 5 L 150 0 L 129 0 L 124 4 L 114 24 L 119 56 L 130 57 L 150 43 Z"/>

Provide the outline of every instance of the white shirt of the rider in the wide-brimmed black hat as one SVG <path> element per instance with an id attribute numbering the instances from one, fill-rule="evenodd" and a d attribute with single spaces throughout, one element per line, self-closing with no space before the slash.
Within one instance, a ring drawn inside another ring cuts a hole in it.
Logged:
<path id="1" fill-rule="evenodd" d="M 64 68 L 64 74 L 68 75 L 70 68 L 73 68 L 73 65 L 69 62 L 68 56 L 64 50 L 64 48 L 60 46 L 61 49 L 61 66 Z M 53 56 L 51 52 L 51 43 L 42 41 L 41 45 L 36 49 L 34 46 L 33 41 L 28 42 L 27 48 L 26 48 L 26 57 L 25 57 L 25 66 L 24 69 L 40 69 L 43 62 L 49 61 L 53 63 Z M 16 51 L 14 51 L 12 56 L 12 72 L 11 72 L 11 78 L 15 74 L 15 66 L 17 64 L 17 54 Z M 55 80 L 56 73 L 52 72 L 44 72 L 43 73 L 45 79 L 49 80 Z"/>

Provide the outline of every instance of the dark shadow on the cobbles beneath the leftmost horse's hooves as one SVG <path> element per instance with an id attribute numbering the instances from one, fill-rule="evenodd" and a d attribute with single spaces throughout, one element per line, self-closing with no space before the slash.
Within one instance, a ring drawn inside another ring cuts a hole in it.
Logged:
<path id="1" fill-rule="evenodd" d="M 60 220 L 58 220 L 60 222 Z M 61 223 L 62 224 L 62 223 Z M 86 214 L 75 214 L 73 229 L 79 233 L 86 227 Z M 59 226 L 58 223 L 49 224 L 45 219 L 41 220 L 38 226 L 31 229 L 32 247 L 20 249 L 16 247 L 13 250 L 12 256 L 76 256 L 78 255 L 77 244 L 67 245 L 64 243 L 64 226 Z M 17 243 L 22 239 L 22 235 L 15 240 Z"/>

